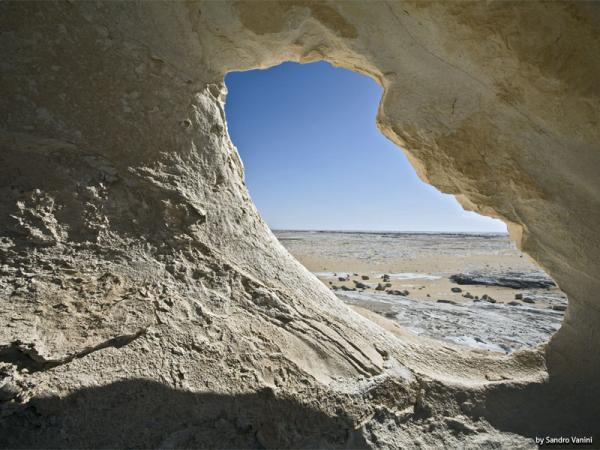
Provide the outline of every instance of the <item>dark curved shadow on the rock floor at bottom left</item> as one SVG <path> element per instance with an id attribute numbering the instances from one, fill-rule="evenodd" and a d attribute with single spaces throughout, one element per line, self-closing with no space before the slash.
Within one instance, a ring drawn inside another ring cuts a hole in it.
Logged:
<path id="1" fill-rule="evenodd" d="M 193 393 L 136 379 L 32 399 L 0 422 L 0 448 L 365 448 L 328 416 L 265 389 Z"/>

